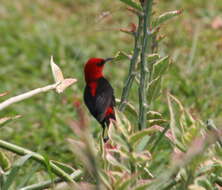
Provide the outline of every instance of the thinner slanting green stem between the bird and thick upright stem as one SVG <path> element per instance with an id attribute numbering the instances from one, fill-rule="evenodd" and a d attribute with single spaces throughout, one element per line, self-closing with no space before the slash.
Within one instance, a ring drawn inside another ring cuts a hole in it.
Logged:
<path id="1" fill-rule="evenodd" d="M 126 107 L 126 102 L 129 96 L 130 89 L 132 87 L 133 81 L 136 77 L 136 63 L 139 57 L 140 53 L 140 36 L 142 33 L 142 28 L 143 28 L 143 18 L 141 15 L 138 15 L 139 23 L 138 23 L 138 28 L 137 31 L 134 35 L 135 37 L 135 44 L 134 44 L 134 52 L 133 56 L 130 60 L 130 68 L 129 68 L 129 73 L 123 88 L 122 96 L 121 96 L 121 102 L 119 105 L 119 110 L 124 111 Z"/>

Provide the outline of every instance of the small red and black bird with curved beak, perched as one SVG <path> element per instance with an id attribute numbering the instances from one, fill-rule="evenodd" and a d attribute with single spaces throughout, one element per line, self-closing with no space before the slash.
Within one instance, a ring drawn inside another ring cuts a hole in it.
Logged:
<path id="1" fill-rule="evenodd" d="M 84 102 L 89 112 L 102 126 L 103 141 L 105 130 L 109 127 L 111 120 L 116 120 L 114 107 L 116 105 L 114 90 L 109 81 L 103 76 L 103 69 L 107 62 L 113 58 L 90 58 L 84 66 L 85 90 Z"/>

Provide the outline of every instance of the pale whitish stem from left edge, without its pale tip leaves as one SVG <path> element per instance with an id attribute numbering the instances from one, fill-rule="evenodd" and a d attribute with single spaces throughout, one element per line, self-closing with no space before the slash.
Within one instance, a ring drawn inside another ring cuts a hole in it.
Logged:
<path id="1" fill-rule="evenodd" d="M 37 88 L 35 90 L 31 90 L 31 91 L 26 92 L 24 94 L 20 94 L 18 96 L 11 97 L 11 98 L 5 100 L 4 102 L 0 103 L 0 111 L 3 110 L 4 108 L 10 106 L 11 104 L 14 104 L 16 102 L 20 102 L 22 100 L 28 99 L 28 98 L 36 95 L 36 94 L 56 89 L 56 87 L 59 84 L 60 83 L 51 84 L 51 85 L 48 85 L 48 86 L 45 86 L 45 87 L 42 87 L 42 88 Z"/>

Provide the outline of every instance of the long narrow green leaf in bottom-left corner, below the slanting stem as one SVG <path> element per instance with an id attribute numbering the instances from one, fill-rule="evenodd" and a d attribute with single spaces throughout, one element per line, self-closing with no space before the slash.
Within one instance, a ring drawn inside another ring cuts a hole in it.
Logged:
<path id="1" fill-rule="evenodd" d="M 9 187 L 14 182 L 19 169 L 25 164 L 25 162 L 32 157 L 32 154 L 27 154 L 21 158 L 19 158 L 12 166 L 12 169 L 10 170 L 5 183 L 3 184 L 2 190 L 8 190 Z"/>

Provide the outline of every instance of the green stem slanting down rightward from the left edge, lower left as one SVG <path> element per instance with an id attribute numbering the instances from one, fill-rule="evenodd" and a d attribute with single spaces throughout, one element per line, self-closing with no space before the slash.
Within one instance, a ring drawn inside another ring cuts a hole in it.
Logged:
<path id="1" fill-rule="evenodd" d="M 8 143 L 6 141 L 0 140 L 0 147 L 14 152 L 18 155 L 24 156 L 27 154 L 31 154 L 31 158 L 36 160 L 37 162 L 39 162 L 40 164 L 46 166 L 46 162 L 45 159 L 42 155 L 36 153 L 36 152 L 32 152 L 30 150 L 27 150 L 25 148 L 19 147 L 17 145 Z M 63 180 L 67 181 L 67 182 L 71 182 L 71 183 L 75 183 L 75 181 L 69 176 L 69 174 L 67 174 L 66 172 L 64 172 L 61 168 L 59 168 L 58 166 L 56 166 L 54 163 L 52 163 L 51 161 L 49 161 L 49 165 L 52 169 L 52 172 L 54 174 L 56 174 L 57 176 L 61 177 Z"/>

